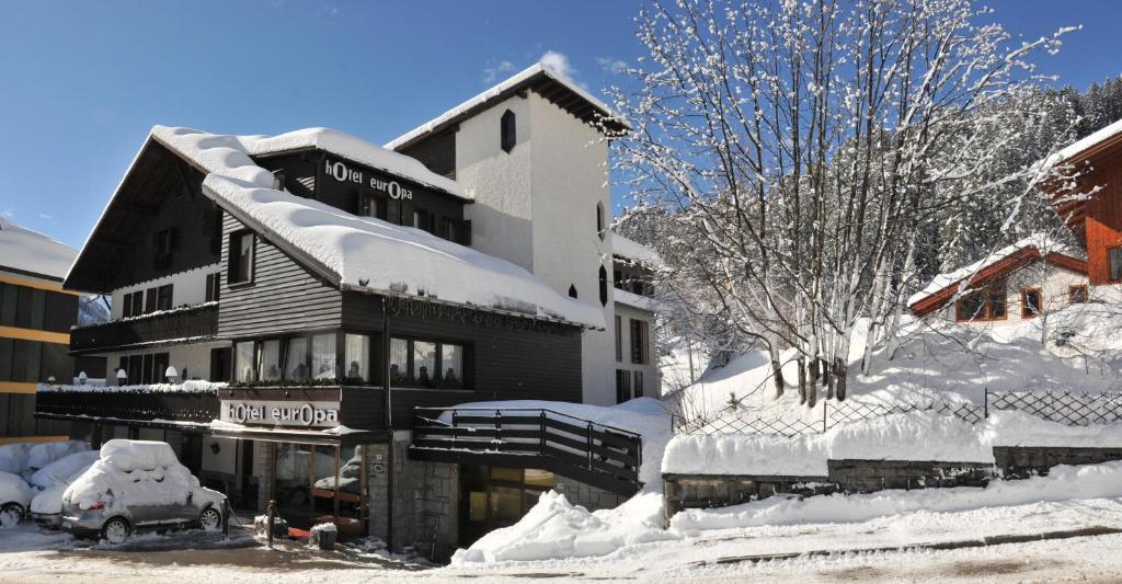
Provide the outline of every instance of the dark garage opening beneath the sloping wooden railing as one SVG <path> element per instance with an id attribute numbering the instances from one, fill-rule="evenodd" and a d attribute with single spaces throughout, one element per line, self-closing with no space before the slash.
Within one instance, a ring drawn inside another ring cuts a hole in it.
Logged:
<path id="1" fill-rule="evenodd" d="M 460 466 L 460 547 L 516 523 L 557 478 L 539 469 Z"/>

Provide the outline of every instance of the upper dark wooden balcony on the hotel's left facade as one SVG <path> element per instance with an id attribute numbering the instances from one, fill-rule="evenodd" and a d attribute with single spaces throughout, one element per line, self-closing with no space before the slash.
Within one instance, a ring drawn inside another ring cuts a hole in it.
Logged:
<path id="1" fill-rule="evenodd" d="M 218 303 L 174 308 L 71 330 L 73 355 L 156 345 L 167 341 L 206 340 L 218 331 Z"/>

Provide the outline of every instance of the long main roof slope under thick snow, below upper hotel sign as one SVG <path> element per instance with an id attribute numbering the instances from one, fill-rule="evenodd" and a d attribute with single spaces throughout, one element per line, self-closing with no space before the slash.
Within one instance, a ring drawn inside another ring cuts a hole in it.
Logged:
<path id="1" fill-rule="evenodd" d="M 203 191 L 220 205 L 316 262 L 341 287 L 605 325 L 600 310 L 514 263 L 425 231 L 273 189 L 272 173 L 249 156 L 256 139 L 159 126 L 151 136 L 208 173 Z"/>

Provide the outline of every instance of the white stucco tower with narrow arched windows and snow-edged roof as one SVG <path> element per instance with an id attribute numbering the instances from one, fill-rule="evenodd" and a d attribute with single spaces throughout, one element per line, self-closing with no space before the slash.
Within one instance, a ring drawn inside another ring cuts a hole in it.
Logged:
<path id="1" fill-rule="evenodd" d="M 597 123 L 608 115 L 534 65 L 387 145 L 465 187 L 472 248 L 604 312 L 605 330 L 582 340 L 583 398 L 598 405 L 616 401 L 608 140 Z"/>

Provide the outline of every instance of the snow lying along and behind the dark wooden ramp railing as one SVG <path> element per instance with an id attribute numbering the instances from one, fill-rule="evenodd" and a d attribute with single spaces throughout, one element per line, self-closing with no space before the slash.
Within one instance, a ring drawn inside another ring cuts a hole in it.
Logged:
<path id="1" fill-rule="evenodd" d="M 671 437 L 670 414 L 656 399 L 636 398 L 616 406 L 592 406 L 590 404 L 569 404 L 565 401 L 542 401 L 534 399 L 515 399 L 506 401 L 477 401 L 460 404 L 450 409 L 484 409 L 484 410 L 517 410 L 546 409 L 558 414 L 557 419 L 573 423 L 565 416 L 580 418 L 594 424 L 613 426 L 633 432 L 643 437 L 643 463 L 640 466 L 638 479 L 647 489 L 662 488 L 662 454 Z M 462 412 L 461 412 L 462 414 Z M 550 414 L 546 414 L 548 416 Z M 440 420 L 450 424 L 452 415 L 445 411 Z"/>

